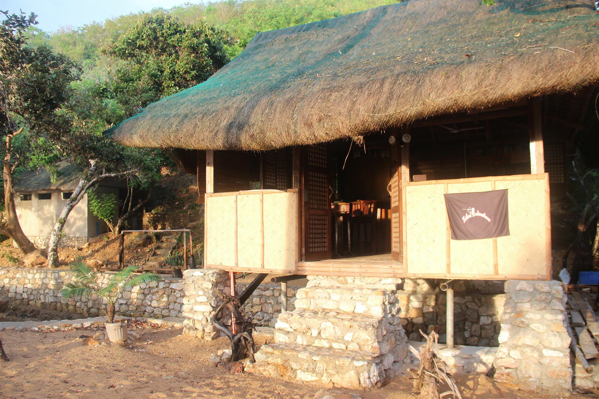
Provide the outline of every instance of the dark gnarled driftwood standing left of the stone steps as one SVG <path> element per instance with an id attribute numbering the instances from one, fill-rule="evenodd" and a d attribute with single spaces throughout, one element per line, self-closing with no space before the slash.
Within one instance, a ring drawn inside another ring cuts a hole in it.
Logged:
<path id="1" fill-rule="evenodd" d="M 223 303 L 220 304 L 219 307 L 214 311 L 214 316 L 212 316 L 212 322 L 214 327 L 216 327 L 219 331 L 222 331 L 231 341 L 231 357 L 228 359 L 229 367 L 223 365 L 225 368 L 230 368 L 231 370 L 235 370 L 237 367 L 231 367 L 235 362 L 240 361 L 247 354 L 249 354 L 252 362 L 255 362 L 254 353 L 256 353 L 256 344 L 254 343 L 254 339 L 252 338 L 252 331 L 255 330 L 255 324 L 252 323 L 251 319 L 245 319 L 239 310 L 241 303 L 238 298 L 232 297 L 231 295 L 220 292 L 219 290 L 215 290 L 216 294 L 223 300 Z M 226 325 L 222 324 L 220 319 L 222 319 L 222 315 L 220 315 L 220 311 L 225 309 L 229 309 L 231 313 L 231 324 L 235 325 L 235 334 L 233 334 Z"/>

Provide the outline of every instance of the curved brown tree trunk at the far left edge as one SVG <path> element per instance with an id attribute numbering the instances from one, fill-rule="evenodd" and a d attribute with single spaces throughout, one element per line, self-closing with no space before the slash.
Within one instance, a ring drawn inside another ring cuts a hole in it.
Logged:
<path id="1" fill-rule="evenodd" d="M 19 131 L 20 132 L 20 131 Z M 17 210 L 14 206 L 14 189 L 13 189 L 13 170 L 14 165 L 11 164 L 11 141 L 14 135 L 6 137 L 7 150 L 4 155 L 4 165 L 2 167 L 2 180 L 4 180 L 4 214 L 2 214 L 2 225 L 0 226 L 0 234 L 8 235 L 14 242 L 17 243 L 19 249 L 23 253 L 34 252 L 35 246 L 29 241 L 29 238 L 23 232 L 17 217 Z"/>

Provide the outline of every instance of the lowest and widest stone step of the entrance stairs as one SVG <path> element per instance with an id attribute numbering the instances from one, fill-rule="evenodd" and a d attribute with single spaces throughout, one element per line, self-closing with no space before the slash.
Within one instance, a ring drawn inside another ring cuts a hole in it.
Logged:
<path id="1" fill-rule="evenodd" d="M 385 385 L 403 364 L 403 361 L 394 361 L 391 352 L 374 355 L 293 343 L 262 345 L 255 358 L 255 363 L 246 365 L 249 373 L 349 389 Z"/>

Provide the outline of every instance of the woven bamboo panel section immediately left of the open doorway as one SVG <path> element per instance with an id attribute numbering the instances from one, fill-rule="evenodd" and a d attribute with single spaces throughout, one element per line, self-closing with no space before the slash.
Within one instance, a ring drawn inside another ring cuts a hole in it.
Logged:
<path id="1" fill-rule="evenodd" d="M 264 195 L 265 268 L 295 270 L 298 247 L 297 201 L 297 193 Z"/>

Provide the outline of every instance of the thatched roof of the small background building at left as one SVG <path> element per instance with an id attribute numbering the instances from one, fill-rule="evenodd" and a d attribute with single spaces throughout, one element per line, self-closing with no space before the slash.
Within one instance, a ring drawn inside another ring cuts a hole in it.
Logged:
<path id="1" fill-rule="evenodd" d="M 52 182 L 52 175 L 49 170 L 40 168 L 37 171 L 27 171 L 15 177 L 15 191 L 74 191 L 83 170 L 68 162 L 59 162 L 57 167 L 56 182 Z"/>

